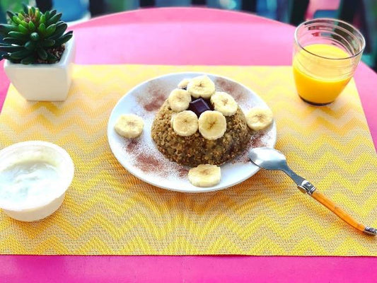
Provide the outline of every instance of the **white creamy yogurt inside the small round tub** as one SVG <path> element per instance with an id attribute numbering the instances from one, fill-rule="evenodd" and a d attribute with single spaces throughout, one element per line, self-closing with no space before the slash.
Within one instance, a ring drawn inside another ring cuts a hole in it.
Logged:
<path id="1" fill-rule="evenodd" d="M 60 174 L 51 163 L 26 159 L 0 171 L 0 198 L 30 206 L 40 197 L 52 197 L 59 179 Z"/>

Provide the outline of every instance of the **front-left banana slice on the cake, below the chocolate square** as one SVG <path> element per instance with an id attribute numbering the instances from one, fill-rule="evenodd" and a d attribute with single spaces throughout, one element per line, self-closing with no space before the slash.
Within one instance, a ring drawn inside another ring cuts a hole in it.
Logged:
<path id="1" fill-rule="evenodd" d="M 197 115 L 190 110 L 179 112 L 173 117 L 173 130 L 182 137 L 189 137 L 197 132 L 197 120 Z"/>

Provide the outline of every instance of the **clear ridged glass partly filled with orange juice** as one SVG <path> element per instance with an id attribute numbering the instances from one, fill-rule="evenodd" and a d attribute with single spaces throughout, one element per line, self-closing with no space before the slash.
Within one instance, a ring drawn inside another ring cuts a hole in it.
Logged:
<path id="1" fill-rule="evenodd" d="M 326 105 L 340 95 L 364 51 L 363 35 L 349 23 L 316 18 L 294 33 L 293 70 L 298 96 Z"/>

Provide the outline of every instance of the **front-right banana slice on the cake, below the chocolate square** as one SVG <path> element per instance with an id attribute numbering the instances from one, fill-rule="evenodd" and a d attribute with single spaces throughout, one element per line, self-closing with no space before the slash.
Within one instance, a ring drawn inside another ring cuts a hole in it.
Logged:
<path id="1" fill-rule="evenodd" d="M 202 112 L 199 116 L 199 132 L 205 139 L 219 139 L 226 131 L 226 119 L 218 111 Z"/>

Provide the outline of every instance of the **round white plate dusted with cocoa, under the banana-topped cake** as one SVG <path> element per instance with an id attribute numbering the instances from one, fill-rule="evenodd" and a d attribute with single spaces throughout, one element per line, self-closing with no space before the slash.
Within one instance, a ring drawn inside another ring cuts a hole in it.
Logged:
<path id="1" fill-rule="evenodd" d="M 146 183 L 179 192 L 210 192 L 236 185 L 257 173 L 259 168 L 250 162 L 248 151 L 221 166 L 221 181 L 213 187 L 195 187 L 188 178 L 190 168 L 169 161 L 158 151 L 151 138 L 151 125 L 156 112 L 168 98 L 170 91 L 177 88 L 182 79 L 190 79 L 204 73 L 175 73 L 159 76 L 132 88 L 120 98 L 112 110 L 108 122 L 108 141 L 115 158 L 124 168 Z M 216 91 L 226 91 L 233 96 L 240 108 L 259 106 L 268 108 L 266 103 L 253 91 L 223 76 L 207 74 L 214 81 Z M 144 130 L 137 139 L 125 139 L 115 132 L 114 125 L 122 114 L 132 113 L 144 120 Z M 253 135 L 249 149 L 253 147 L 274 147 L 277 139 L 276 125 Z"/>

